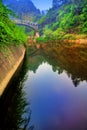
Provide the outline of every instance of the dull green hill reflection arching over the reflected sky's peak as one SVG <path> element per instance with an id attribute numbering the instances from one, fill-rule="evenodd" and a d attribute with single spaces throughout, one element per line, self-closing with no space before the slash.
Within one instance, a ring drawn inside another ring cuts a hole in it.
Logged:
<path id="1" fill-rule="evenodd" d="M 29 49 L 29 53 L 32 51 L 34 52 L 34 48 L 31 47 L 31 49 Z M 28 69 L 32 70 L 34 73 L 38 69 L 39 65 L 42 64 L 42 62 L 48 62 L 50 65 L 52 65 L 53 71 L 58 71 L 58 74 L 61 74 L 63 72 L 63 69 L 58 66 L 57 62 L 54 59 L 50 58 L 49 55 L 44 55 L 42 51 L 39 51 L 39 54 L 36 51 L 33 55 L 29 56 L 28 59 Z"/>

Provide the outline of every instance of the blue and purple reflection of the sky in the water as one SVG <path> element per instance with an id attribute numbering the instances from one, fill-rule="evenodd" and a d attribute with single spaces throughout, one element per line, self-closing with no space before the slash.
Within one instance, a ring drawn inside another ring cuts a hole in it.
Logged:
<path id="1" fill-rule="evenodd" d="M 24 91 L 31 102 L 35 130 L 85 130 L 87 128 L 87 83 L 76 89 L 63 71 L 58 75 L 47 62 L 28 71 Z"/>

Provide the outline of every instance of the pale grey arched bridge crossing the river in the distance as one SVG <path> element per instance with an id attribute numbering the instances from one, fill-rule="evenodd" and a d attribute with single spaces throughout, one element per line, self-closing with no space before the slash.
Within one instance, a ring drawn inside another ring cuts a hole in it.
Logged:
<path id="1" fill-rule="evenodd" d="M 37 23 L 33 23 L 33 22 L 28 21 L 28 20 L 21 20 L 21 19 L 13 19 L 12 21 L 14 21 L 16 24 L 19 24 L 19 25 L 31 27 L 35 31 L 38 30 L 38 24 Z"/>

